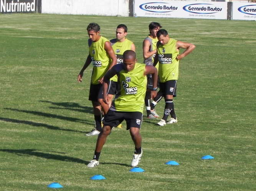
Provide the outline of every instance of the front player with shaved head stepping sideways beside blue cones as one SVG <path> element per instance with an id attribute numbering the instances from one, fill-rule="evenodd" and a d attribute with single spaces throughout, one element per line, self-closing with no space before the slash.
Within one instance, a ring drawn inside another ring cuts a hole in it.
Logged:
<path id="1" fill-rule="evenodd" d="M 109 111 L 105 115 L 103 120 L 104 126 L 97 139 L 94 157 L 87 165 L 88 167 L 93 168 L 99 165 L 99 156 L 107 136 L 113 126 L 118 125 L 123 120 L 126 120 L 127 130 L 130 131 L 130 136 L 135 146 L 131 166 L 135 167 L 140 162 L 142 156 L 142 138 L 139 131 L 142 123 L 144 97 L 147 86 L 146 75 L 152 74 L 153 86 L 157 87 L 157 69 L 154 66 L 136 62 L 136 53 L 132 50 L 126 50 L 123 54 L 123 62 L 113 66 L 104 76 L 103 95 L 106 104 L 111 102 L 107 95 L 107 88 L 109 79 L 114 75 L 118 76 L 120 91 L 116 94 Z M 152 91 L 151 98 L 153 99 L 156 94 L 156 91 Z"/>

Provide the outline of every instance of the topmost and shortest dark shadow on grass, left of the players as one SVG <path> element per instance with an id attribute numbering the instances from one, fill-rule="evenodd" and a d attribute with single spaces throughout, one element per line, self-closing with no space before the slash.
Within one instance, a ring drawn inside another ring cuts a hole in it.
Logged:
<path id="1" fill-rule="evenodd" d="M 50 102 L 50 101 L 44 101 L 41 100 L 39 102 L 43 102 L 43 103 L 50 103 L 52 105 L 57 105 L 59 107 L 49 107 L 51 109 L 64 109 L 64 110 L 71 110 L 71 111 L 76 111 L 76 112 L 83 112 L 83 113 L 91 113 L 93 115 L 93 108 L 92 105 L 91 107 L 87 107 L 87 106 L 81 106 L 77 103 L 73 103 L 73 102 Z"/>

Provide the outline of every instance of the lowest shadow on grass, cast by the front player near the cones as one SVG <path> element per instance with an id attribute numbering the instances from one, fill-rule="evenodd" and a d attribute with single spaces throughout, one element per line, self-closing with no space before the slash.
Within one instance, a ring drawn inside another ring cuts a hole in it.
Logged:
<path id="1" fill-rule="evenodd" d="M 66 161 L 66 162 L 77 162 L 81 164 L 86 164 L 88 165 L 89 161 L 74 158 L 74 157 L 68 157 L 68 156 L 63 156 L 63 155 L 58 155 L 58 154 L 64 154 L 63 152 L 55 152 L 55 151 L 41 151 L 41 150 L 36 150 L 36 149 L 0 149 L 0 152 L 8 152 L 8 153 L 13 153 L 17 154 L 19 156 L 36 156 L 39 158 L 44 158 L 44 159 L 53 159 L 53 160 L 60 160 L 60 161 Z M 50 154 L 46 152 L 54 152 L 58 154 Z M 123 163 L 111 163 L 111 162 L 101 162 L 101 164 L 109 164 L 109 165 L 121 165 L 121 166 L 126 166 L 130 167 L 127 164 Z"/>

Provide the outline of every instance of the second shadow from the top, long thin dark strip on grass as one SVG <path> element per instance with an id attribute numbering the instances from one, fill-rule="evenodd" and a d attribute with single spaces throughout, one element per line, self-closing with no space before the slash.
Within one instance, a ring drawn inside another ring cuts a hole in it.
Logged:
<path id="1" fill-rule="evenodd" d="M 42 117 L 48 117 L 48 118 L 56 118 L 60 120 L 66 120 L 66 121 L 73 121 L 73 122 L 79 122 L 79 123 L 84 123 L 88 120 L 81 120 L 79 118 L 74 118 L 74 117 L 64 117 L 61 115 L 56 115 L 56 114 L 51 114 L 51 113 L 45 113 L 45 112 L 36 112 L 36 111 L 28 111 L 28 110 L 18 110 L 18 109 L 13 109 L 13 108 L 4 108 L 5 110 L 11 110 L 15 112 L 23 112 L 23 113 L 29 113 L 33 115 L 38 115 Z M 88 123 L 89 125 L 92 125 L 92 123 Z"/>

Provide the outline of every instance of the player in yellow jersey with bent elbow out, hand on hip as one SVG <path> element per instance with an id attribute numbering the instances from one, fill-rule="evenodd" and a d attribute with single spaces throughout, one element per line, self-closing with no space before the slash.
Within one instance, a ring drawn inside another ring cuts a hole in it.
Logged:
<path id="1" fill-rule="evenodd" d="M 159 62 L 160 90 L 165 98 L 164 116 L 157 124 L 160 126 L 166 123 L 177 123 L 174 112 L 173 97 L 176 97 L 179 60 L 195 49 L 195 45 L 180 40 L 171 39 L 165 29 L 157 31 L 157 53 L 154 66 Z M 185 49 L 179 54 L 180 49 Z M 168 116 L 171 115 L 167 122 Z"/>

